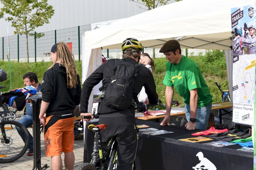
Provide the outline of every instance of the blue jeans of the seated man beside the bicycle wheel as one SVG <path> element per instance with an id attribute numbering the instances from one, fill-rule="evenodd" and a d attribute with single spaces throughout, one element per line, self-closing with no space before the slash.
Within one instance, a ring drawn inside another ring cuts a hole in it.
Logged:
<path id="1" fill-rule="evenodd" d="M 33 117 L 29 116 L 29 115 L 24 115 L 20 118 L 20 120 L 18 120 L 18 122 L 20 122 L 23 126 L 30 127 L 33 125 Z M 26 135 L 24 133 L 22 133 L 22 130 L 18 127 L 16 127 L 20 137 L 22 138 L 22 140 L 25 142 L 26 141 Z M 33 137 L 32 135 L 29 133 L 30 136 L 30 141 L 29 141 L 29 146 L 28 149 L 33 149 Z"/>

